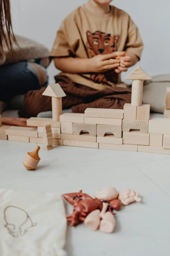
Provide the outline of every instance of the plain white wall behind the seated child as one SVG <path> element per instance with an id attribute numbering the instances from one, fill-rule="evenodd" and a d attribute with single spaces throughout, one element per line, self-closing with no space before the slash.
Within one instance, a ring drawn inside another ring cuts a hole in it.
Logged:
<path id="1" fill-rule="evenodd" d="M 51 49 L 64 17 L 85 0 L 12 0 L 14 32 Z M 139 28 L 145 49 L 140 66 L 150 75 L 170 73 L 170 1 L 114 0 L 116 7 L 128 12 Z M 132 71 L 130 68 L 127 73 Z M 122 78 L 127 75 L 122 74 Z M 57 70 L 49 67 L 50 82 Z"/>

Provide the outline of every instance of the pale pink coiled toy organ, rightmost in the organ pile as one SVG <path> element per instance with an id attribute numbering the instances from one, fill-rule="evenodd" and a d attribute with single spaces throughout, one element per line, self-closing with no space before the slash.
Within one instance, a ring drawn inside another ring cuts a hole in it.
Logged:
<path id="1" fill-rule="evenodd" d="M 139 197 L 139 193 L 136 193 L 131 189 L 124 189 L 119 192 L 118 199 L 123 205 L 128 205 L 133 202 L 141 202 L 141 198 Z"/>

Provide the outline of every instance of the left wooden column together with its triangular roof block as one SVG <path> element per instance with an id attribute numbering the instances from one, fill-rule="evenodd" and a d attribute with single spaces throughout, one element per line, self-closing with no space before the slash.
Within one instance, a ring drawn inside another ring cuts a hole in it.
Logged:
<path id="1" fill-rule="evenodd" d="M 50 96 L 52 101 L 52 120 L 60 121 L 62 114 L 62 97 L 65 97 L 63 89 L 59 84 L 50 84 L 42 95 Z"/>

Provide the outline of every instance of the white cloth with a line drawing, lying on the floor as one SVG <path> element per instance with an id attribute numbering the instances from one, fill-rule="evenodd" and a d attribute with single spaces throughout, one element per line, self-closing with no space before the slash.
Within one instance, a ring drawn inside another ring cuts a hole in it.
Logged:
<path id="1" fill-rule="evenodd" d="M 0 190 L 0 256 L 65 256 L 66 229 L 60 194 Z"/>

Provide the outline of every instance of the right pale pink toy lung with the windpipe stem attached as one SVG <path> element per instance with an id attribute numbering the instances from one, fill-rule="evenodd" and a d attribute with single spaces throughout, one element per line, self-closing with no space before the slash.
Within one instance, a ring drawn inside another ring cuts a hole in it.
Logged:
<path id="1" fill-rule="evenodd" d="M 102 218 L 100 222 L 100 230 L 104 233 L 112 233 L 115 229 L 116 220 L 112 213 L 106 212 L 108 207 L 108 203 L 103 203 L 103 208 L 100 213 L 100 217 Z"/>

